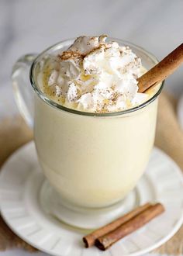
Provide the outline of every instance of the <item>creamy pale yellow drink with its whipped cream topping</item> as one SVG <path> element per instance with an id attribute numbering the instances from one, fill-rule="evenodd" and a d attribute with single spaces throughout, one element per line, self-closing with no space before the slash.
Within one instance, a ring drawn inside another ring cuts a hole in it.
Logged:
<path id="1" fill-rule="evenodd" d="M 51 100 L 36 95 L 40 164 L 60 197 L 76 206 L 123 199 L 143 174 L 154 144 L 157 99 L 138 106 L 158 87 L 138 93 L 136 78 L 145 68 L 140 58 L 105 39 L 82 36 L 68 50 L 48 55 L 37 79 Z"/>

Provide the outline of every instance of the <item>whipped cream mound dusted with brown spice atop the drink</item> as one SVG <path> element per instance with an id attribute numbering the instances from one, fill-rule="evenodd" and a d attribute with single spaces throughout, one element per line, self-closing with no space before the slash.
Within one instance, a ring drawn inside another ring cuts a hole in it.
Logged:
<path id="1" fill-rule="evenodd" d="M 107 36 L 80 36 L 67 50 L 50 57 L 47 86 L 66 106 L 89 112 L 116 112 L 138 106 L 140 58 Z"/>

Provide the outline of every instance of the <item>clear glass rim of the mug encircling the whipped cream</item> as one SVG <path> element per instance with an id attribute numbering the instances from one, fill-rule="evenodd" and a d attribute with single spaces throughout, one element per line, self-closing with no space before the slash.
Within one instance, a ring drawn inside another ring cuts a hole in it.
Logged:
<path id="1" fill-rule="evenodd" d="M 46 102 L 49 106 L 52 106 L 56 109 L 60 109 L 63 110 L 65 112 L 70 112 L 73 114 L 77 114 L 80 116 L 122 116 L 131 112 L 136 112 L 139 109 L 143 109 L 144 107 L 148 106 L 151 102 L 154 102 L 155 99 L 157 99 L 157 96 L 160 95 L 162 88 L 164 87 L 164 81 L 161 82 L 160 88 L 158 89 L 158 91 L 150 98 L 148 99 L 146 102 L 143 102 L 142 104 L 140 104 L 139 106 L 135 106 L 131 109 L 125 109 L 122 111 L 116 111 L 116 112 L 105 112 L 105 113 L 99 113 L 99 112 L 84 112 L 84 111 L 80 111 L 77 109 L 70 109 L 67 108 L 66 106 L 62 106 L 60 104 L 58 104 L 57 102 L 54 102 L 54 100 L 49 99 L 39 88 L 39 86 L 36 85 L 36 81 L 33 78 L 33 71 L 34 68 L 36 66 L 36 63 L 38 61 L 38 59 L 43 55 L 46 54 L 48 50 L 54 49 L 54 47 L 57 47 L 60 43 L 65 43 L 69 40 L 75 40 L 75 38 L 71 38 L 71 39 L 67 39 L 67 40 L 63 40 L 60 41 L 58 43 L 55 43 L 54 45 L 52 45 L 51 47 L 48 47 L 46 50 L 43 50 L 40 54 L 37 55 L 37 57 L 35 58 L 35 60 L 33 61 L 33 64 L 30 67 L 30 71 L 29 71 L 29 79 L 30 79 L 30 83 L 34 89 L 34 91 L 36 92 L 36 94 L 40 97 L 40 99 L 43 100 L 43 102 Z M 155 57 L 153 54 L 151 54 L 150 52 L 148 52 L 147 50 L 144 50 L 143 47 L 139 47 L 134 43 L 130 43 L 129 41 L 126 40 L 120 40 L 114 37 L 109 37 L 109 40 L 115 40 L 115 41 L 121 41 L 126 45 L 132 45 L 134 47 L 136 47 L 136 49 L 141 50 L 144 54 L 149 55 L 149 57 L 151 58 L 151 60 L 153 60 L 155 63 L 158 63 L 157 57 Z"/>

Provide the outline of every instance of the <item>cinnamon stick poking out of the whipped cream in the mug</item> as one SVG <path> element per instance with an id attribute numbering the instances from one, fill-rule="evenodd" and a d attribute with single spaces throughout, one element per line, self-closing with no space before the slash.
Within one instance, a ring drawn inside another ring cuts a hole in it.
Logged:
<path id="1" fill-rule="evenodd" d="M 143 74 L 138 81 L 138 92 L 145 92 L 152 85 L 164 81 L 183 63 L 183 43 L 167 55 L 156 66 Z"/>

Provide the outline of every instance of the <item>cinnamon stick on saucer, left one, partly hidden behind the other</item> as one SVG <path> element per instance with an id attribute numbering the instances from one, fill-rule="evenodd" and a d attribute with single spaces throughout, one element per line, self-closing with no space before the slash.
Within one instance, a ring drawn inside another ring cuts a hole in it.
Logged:
<path id="1" fill-rule="evenodd" d="M 126 215 L 119 217 L 117 220 L 114 220 L 111 223 L 107 224 L 106 226 L 101 227 L 98 230 L 92 232 L 91 234 L 88 234 L 87 236 L 83 237 L 85 247 L 91 247 L 92 245 L 95 244 L 95 240 L 98 237 L 102 237 L 103 235 L 111 232 L 112 230 L 115 230 L 117 227 L 121 226 L 123 223 L 126 223 L 137 214 L 142 213 L 145 209 L 148 209 L 150 206 L 152 205 L 149 202 L 147 202 L 145 205 L 133 209 L 133 211 L 131 211 L 130 213 L 127 213 Z"/>

